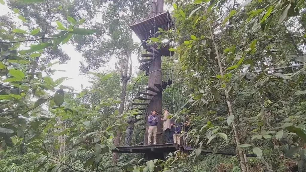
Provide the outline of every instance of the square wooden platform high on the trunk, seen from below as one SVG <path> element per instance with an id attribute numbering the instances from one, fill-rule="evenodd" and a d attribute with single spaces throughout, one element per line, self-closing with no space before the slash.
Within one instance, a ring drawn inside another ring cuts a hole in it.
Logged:
<path id="1" fill-rule="evenodd" d="M 138 22 L 130 26 L 130 28 L 135 32 L 138 38 L 143 41 L 150 37 L 153 37 L 154 33 L 154 18 L 155 18 L 155 32 L 158 31 L 158 28 L 163 30 L 169 30 L 169 28 L 174 27 L 174 23 L 168 11 L 160 13 L 155 17 L 148 18 L 147 20 Z M 169 24 L 169 28 L 168 28 Z M 152 32 L 150 32 L 150 30 Z"/>

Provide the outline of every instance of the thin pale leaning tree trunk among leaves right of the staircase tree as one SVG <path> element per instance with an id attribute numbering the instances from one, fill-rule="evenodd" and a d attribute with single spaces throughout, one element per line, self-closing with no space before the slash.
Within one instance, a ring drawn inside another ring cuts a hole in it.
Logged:
<path id="1" fill-rule="evenodd" d="M 220 69 L 220 74 L 223 78 L 223 68 L 222 68 L 222 64 L 221 64 L 221 60 L 220 60 L 220 55 L 219 55 L 219 51 L 218 51 L 218 47 L 217 44 L 215 42 L 215 35 L 214 32 L 212 30 L 211 25 L 209 25 L 210 27 L 210 32 L 211 32 L 211 39 L 213 41 L 214 47 L 215 47 L 215 51 L 216 51 L 216 55 L 217 55 L 217 60 L 218 60 L 218 65 L 219 65 L 219 69 Z M 233 115 L 233 108 L 232 108 L 232 104 L 230 103 L 230 95 L 227 92 L 226 89 L 224 89 L 224 93 L 225 93 L 225 97 L 226 97 L 226 103 L 227 103 L 227 107 L 229 109 L 229 114 Z M 237 150 L 238 150 L 238 155 L 239 155 L 239 160 L 240 160 L 240 166 L 241 166 L 241 171 L 242 172 L 248 172 L 248 166 L 247 166 L 247 157 L 244 155 L 244 152 L 242 151 L 241 148 L 238 148 L 238 145 L 240 144 L 240 139 L 239 139 L 239 134 L 237 132 L 236 129 L 236 123 L 235 120 L 232 122 L 232 126 L 233 126 L 233 131 L 234 131 L 234 136 L 235 136 L 235 142 L 237 145 Z"/>

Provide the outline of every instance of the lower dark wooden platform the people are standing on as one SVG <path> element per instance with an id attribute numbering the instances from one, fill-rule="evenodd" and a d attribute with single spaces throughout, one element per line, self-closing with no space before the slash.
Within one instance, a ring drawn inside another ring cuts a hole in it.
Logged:
<path id="1" fill-rule="evenodd" d="M 177 144 L 154 144 L 141 146 L 122 146 L 113 149 L 112 152 L 119 153 L 150 153 L 150 152 L 174 152 L 178 150 Z"/>

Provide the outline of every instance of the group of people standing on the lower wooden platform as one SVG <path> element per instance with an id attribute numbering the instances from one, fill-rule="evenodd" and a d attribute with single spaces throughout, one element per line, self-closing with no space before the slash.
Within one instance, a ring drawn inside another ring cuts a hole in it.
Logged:
<path id="1" fill-rule="evenodd" d="M 173 119 L 170 119 L 170 113 L 167 109 L 164 109 L 164 116 L 161 118 L 163 122 L 163 131 L 166 135 L 166 143 L 176 143 L 181 144 L 181 124 L 175 122 Z M 152 144 L 152 137 L 153 137 L 153 144 L 157 143 L 157 124 L 159 118 L 157 116 L 157 111 L 152 111 L 151 114 L 148 116 L 148 145 Z M 126 129 L 126 136 L 125 136 L 125 145 L 129 145 L 132 139 L 132 133 L 134 128 L 134 123 L 137 122 L 135 117 L 128 118 L 128 126 Z"/>

